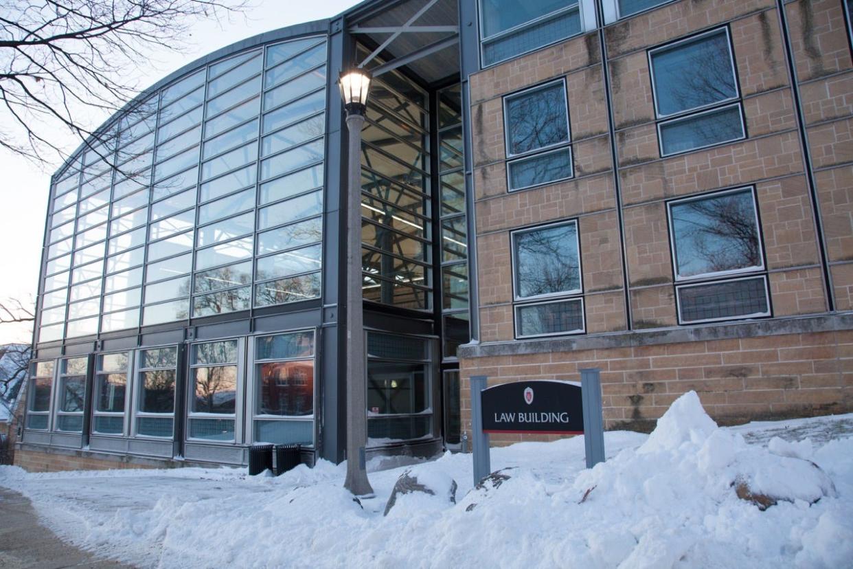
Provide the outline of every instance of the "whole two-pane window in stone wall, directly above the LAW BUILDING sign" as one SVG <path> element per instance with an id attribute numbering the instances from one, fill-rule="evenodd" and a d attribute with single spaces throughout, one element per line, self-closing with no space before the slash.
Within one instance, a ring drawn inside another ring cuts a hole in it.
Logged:
<path id="1" fill-rule="evenodd" d="M 583 333 L 577 221 L 520 229 L 512 241 L 515 336 Z"/>

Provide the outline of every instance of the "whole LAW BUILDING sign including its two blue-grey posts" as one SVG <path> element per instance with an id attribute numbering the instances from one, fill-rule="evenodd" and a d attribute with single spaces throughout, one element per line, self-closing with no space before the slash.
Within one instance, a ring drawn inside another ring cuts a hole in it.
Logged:
<path id="1" fill-rule="evenodd" d="M 581 369 L 581 382 L 514 381 L 487 387 L 471 377 L 474 485 L 491 473 L 489 433 L 583 434 L 587 467 L 604 462 L 601 379 Z"/>

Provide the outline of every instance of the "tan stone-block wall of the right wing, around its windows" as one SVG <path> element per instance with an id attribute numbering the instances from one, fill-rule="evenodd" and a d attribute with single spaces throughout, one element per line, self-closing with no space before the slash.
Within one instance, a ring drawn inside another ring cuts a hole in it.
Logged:
<path id="1" fill-rule="evenodd" d="M 776 6 L 667 3 L 605 26 L 606 66 L 589 32 L 470 78 L 480 330 L 461 349 L 463 430 L 472 374 L 577 380 L 585 367 L 601 368 L 608 428 L 652 427 L 689 390 L 728 423 L 853 410 L 850 31 L 839 0 L 786 3 L 787 33 Z M 722 26 L 746 138 L 662 158 L 648 49 Z M 502 97 L 554 78 L 566 80 L 575 175 L 508 192 Z M 679 326 L 666 201 L 744 186 L 772 317 Z M 585 334 L 515 340 L 510 231 L 564 219 L 578 221 Z M 493 436 L 522 438 L 537 437 Z"/>

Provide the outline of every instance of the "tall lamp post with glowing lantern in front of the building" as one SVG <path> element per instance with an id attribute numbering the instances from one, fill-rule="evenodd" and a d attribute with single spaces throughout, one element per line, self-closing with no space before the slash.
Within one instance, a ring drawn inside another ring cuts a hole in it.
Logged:
<path id="1" fill-rule="evenodd" d="M 346 200 L 346 481 L 356 496 L 373 495 L 364 447 L 368 441 L 367 359 L 362 307 L 361 147 L 370 73 L 353 68 L 340 74 L 340 96 L 350 131 Z"/>

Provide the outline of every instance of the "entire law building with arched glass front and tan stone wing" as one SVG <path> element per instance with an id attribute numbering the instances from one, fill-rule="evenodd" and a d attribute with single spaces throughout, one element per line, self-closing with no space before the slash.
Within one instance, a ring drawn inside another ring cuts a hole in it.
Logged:
<path id="1" fill-rule="evenodd" d="M 850 42 L 844 0 L 368 0 L 194 61 L 53 177 L 16 460 L 344 458 L 355 64 L 368 453 L 460 449 L 472 374 L 853 409 Z"/>

